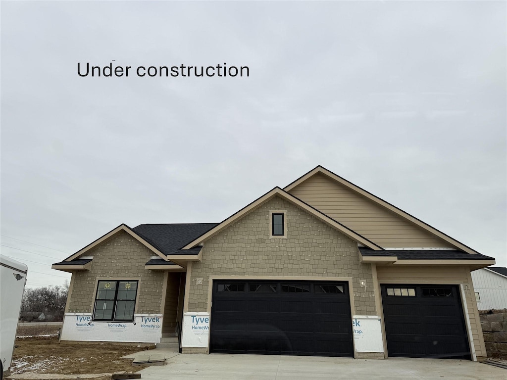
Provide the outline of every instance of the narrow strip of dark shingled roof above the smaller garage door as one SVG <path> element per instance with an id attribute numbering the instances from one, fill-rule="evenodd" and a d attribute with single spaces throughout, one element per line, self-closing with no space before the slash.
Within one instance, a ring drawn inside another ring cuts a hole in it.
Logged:
<path id="1" fill-rule="evenodd" d="M 480 253 L 472 254 L 445 249 L 374 251 L 370 248 L 359 247 L 359 251 L 363 256 L 396 256 L 399 260 L 494 260 L 493 257 L 485 256 Z"/>

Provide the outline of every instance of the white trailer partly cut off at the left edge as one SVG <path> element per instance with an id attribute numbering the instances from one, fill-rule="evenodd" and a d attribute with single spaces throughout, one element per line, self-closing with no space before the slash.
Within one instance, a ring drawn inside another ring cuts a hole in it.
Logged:
<path id="1" fill-rule="evenodd" d="M 0 255 L 0 355 L 1 375 L 8 375 L 11 367 L 14 341 L 18 328 L 21 299 L 26 284 L 28 267 L 12 258 Z"/>

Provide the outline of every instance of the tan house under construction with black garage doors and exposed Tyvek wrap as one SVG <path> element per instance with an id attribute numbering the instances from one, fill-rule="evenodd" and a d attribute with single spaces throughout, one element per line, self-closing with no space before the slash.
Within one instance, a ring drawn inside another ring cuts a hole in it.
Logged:
<path id="1" fill-rule="evenodd" d="M 476 360 L 470 271 L 494 262 L 319 166 L 221 223 L 122 224 L 53 268 L 73 274 L 62 340 Z"/>

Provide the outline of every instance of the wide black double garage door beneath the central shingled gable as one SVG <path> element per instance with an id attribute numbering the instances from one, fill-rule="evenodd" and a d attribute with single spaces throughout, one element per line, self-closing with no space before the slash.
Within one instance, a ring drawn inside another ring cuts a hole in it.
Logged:
<path id="1" fill-rule="evenodd" d="M 348 284 L 214 281 L 210 352 L 353 356 Z"/>

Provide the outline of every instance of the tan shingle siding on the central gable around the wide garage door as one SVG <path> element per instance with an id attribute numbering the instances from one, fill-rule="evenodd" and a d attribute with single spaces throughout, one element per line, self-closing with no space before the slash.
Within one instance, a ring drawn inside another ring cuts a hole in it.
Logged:
<path id="1" fill-rule="evenodd" d="M 287 210 L 287 238 L 270 239 L 270 210 Z M 275 197 L 204 243 L 192 264 L 189 311 L 206 311 L 209 276 L 352 277 L 355 312 L 375 314 L 371 266 L 359 263 L 357 243 L 297 206 Z M 202 285 L 196 285 L 198 278 Z"/>

